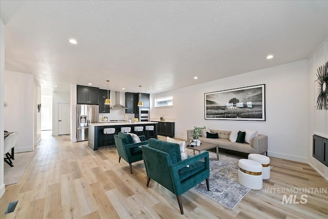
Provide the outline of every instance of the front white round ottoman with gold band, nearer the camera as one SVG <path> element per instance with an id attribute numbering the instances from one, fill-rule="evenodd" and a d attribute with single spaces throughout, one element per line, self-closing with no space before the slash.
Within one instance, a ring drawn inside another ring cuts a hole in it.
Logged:
<path id="1" fill-rule="evenodd" d="M 262 165 L 247 159 L 240 159 L 238 165 L 239 183 L 250 189 L 262 189 Z"/>

